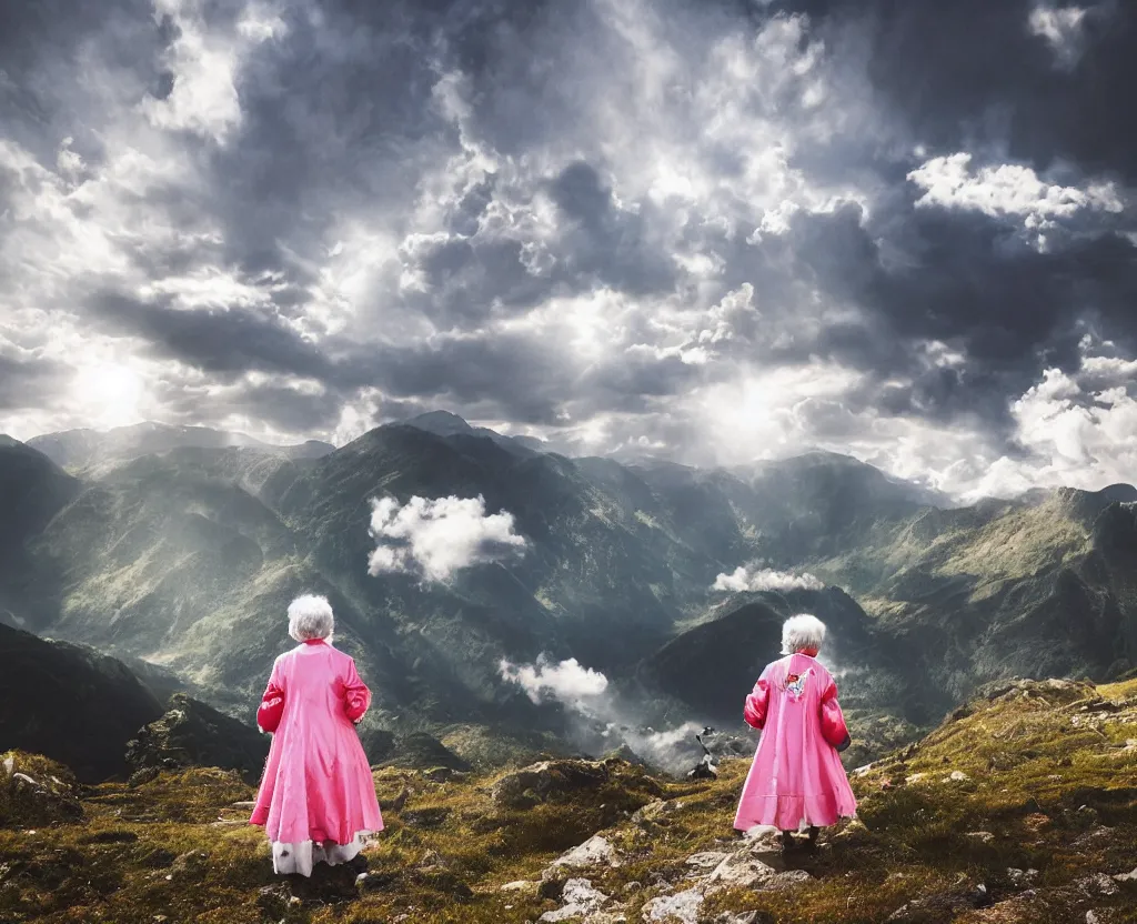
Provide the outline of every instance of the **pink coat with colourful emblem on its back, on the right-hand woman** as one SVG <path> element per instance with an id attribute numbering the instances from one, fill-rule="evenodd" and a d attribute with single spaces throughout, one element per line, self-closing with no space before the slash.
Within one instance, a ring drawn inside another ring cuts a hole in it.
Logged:
<path id="1" fill-rule="evenodd" d="M 837 746 L 848 734 L 837 684 L 808 654 L 767 665 L 746 698 L 746 721 L 762 740 L 742 787 L 735 827 L 824 827 L 856 814 Z"/>

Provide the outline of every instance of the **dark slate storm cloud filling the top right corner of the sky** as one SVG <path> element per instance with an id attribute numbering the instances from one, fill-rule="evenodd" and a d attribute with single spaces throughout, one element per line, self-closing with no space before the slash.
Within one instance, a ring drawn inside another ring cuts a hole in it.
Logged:
<path id="1" fill-rule="evenodd" d="M 1137 179 L 1137 7 L 1124 0 L 782 0 L 870 46 L 873 85 L 936 150 L 994 147 L 1040 168 L 1072 162 Z M 1062 67 L 1028 28 L 1036 8 L 1081 7 L 1081 53 Z"/>

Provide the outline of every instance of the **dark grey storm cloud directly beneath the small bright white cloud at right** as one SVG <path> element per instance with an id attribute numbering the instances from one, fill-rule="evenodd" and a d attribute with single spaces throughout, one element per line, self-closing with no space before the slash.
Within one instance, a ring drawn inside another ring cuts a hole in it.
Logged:
<path id="1" fill-rule="evenodd" d="M 799 215 L 790 236 L 802 271 L 864 316 L 827 325 L 807 348 L 881 379 L 912 377 L 879 393 L 882 410 L 979 414 L 1009 426 L 1007 396 L 1021 395 L 1044 368 L 1077 368 L 1087 319 L 1103 336 L 1137 341 L 1137 249 L 1127 238 L 1089 234 L 1039 253 L 979 213 L 903 200 L 895 208 L 869 221 L 855 204 Z M 888 225 L 886 238 L 878 225 Z M 928 340 L 965 363 L 923 368 L 924 354 L 906 345 Z"/>

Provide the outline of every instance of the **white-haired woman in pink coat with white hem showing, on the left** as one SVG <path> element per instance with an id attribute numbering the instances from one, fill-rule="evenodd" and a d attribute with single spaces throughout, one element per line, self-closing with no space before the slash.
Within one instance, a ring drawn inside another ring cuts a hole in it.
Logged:
<path id="1" fill-rule="evenodd" d="M 263 825 L 279 874 L 310 876 L 317 863 L 350 863 L 383 828 L 375 783 L 355 725 L 371 704 L 355 661 L 332 647 L 332 608 L 301 596 L 288 608 L 300 644 L 273 665 L 257 725 L 273 733 L 251 824 Z"/>

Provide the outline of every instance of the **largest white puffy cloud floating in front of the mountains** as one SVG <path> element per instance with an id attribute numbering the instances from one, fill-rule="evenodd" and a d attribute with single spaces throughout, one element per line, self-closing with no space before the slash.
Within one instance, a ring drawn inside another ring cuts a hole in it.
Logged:
<path id="1" fill-rule="evenodd" d="M 485 514 L 482 497 L 372 498 L 370 533 L 376 542 L 367 560 L 372 576 L 421 575 L 449 581 L 466 568 L 523 554 L 529 542 L 514 531 L 513 514 Z"/>

